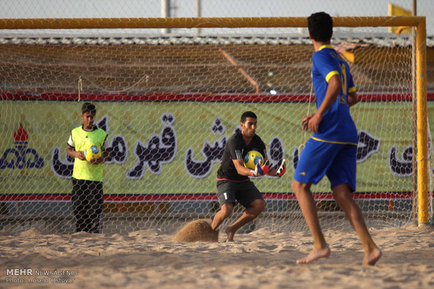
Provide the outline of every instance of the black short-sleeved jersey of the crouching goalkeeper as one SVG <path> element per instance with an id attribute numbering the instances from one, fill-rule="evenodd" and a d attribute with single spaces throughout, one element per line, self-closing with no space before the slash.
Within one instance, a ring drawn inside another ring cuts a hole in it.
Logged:
<path id="1" fill-rule="evenodd" d="M 241 131 L 238 131 L 225 145 L 223 151 L 223 157 L 221 160 L 220 168 L 217 171 L 217 179 L 228 179 L 231 181 L 244 181 L 248 177 L 239 175 L 232 160 L 242 159 L 248 153 L 248 151 L 259 151 L 264 158 L 267 158 L 267 151 L 265 150 L 265 144 L 262 142 L 258 135 L 254 135 L 251 142 L 246 144 L 244 142 Z"/>

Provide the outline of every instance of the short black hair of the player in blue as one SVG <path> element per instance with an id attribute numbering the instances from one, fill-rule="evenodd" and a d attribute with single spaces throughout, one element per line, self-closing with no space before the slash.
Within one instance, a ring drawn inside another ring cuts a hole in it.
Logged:
<path id="1" fill-rule="evenodd" d="M 325 12 L 312 13 L 307 17 L 307 28 L 315 41 L 328 42 L 333 34 L 333 20 Z"/>

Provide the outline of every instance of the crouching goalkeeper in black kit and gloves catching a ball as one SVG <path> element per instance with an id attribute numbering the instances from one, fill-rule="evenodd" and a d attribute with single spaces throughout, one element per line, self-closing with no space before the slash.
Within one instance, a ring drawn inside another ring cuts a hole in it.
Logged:
<path id="1" fill-rule="evenodd" d="M 214 216 L 211 228 L 217 230 L 225 218 L 232 214 L 236 201 L 246 208 L 244 214 L 226 228 L 227 242 L 233 241 L 235 232 L 246 223 L 253 221 L 265 209 L 262 195 L 248 177 L 262 175 L 281 177 L 286 170 L 285 160 L 278 170 L 269 169 L 265 144 L 255 134 L 257 119 L 253 112 L 244 112 L 241 115 L 241 131 L 232 135 L 226 143 L 217 172 L 217 196 L 221 209 Z M 264 157 L 264 163 L 257 164 L 255 170 L 244 167 L 244 156 L 251 150 L 259 151 Z"/>

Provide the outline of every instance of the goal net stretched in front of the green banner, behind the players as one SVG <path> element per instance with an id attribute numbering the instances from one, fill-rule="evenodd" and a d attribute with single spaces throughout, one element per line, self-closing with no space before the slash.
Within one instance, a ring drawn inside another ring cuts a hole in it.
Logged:
<path id="1" fill-rule="evenodd" d="M 351 108 L 359 133 L 353 198 L 369 228 L 433 217 L 426 112 L 434 106 L 423 96 L 426 82 L 415 85 L 411 34 L 387 34 L 391 18 L 378 18 L 335 17 L 332 38 L 359 96 Z M 416 25 L 401 19 L 393 26 Z M 281 179 L 253 180 L 267 208 L 242 230 L 307 230 L 291 189 L 310 137 L 300 122 L 316 110 L 306 24 L 301 17 L 2 21 L 0 230 L 75 232 L 66 148 L 85 102 L 97 108 L 111 149 L 102 232 L 175 232 L 213 218 L 223 149 L 246 110 L 258 115 L 269 161 L 276 167 L 285 158 L 288 168 Z M 328 179 L 312 191 L 323 228 L 349 228 Z"/>

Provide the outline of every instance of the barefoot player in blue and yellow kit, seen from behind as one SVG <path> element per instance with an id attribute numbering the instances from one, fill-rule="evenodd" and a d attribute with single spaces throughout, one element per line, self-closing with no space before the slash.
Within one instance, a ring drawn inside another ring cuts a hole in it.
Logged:
<path id="1" fill-rule="evenodd" d="M 349 107 L 357 103 L 353 77 L 346 61 L 330 45 L 332 17 L 324 12 L 314 13 L 308 17 L 308 28 L 315 49 L 311 77 L 317 110 L 302 119 L 302 129 L 314 134 L 300 155 L 292 186 L 314 238 L 314 249 L 297 263 L 307 264 L 330 255 L 310 190 L 311 184 L 317 184 L 326 175 L 333 197 L 363 244 L 363 265 L 375 265 L 381 251 L 367 230 L 360 208 L 351 198 L 351 192 L 356 190 L 358 144 L 357 128 L 349 112 Z"/>

